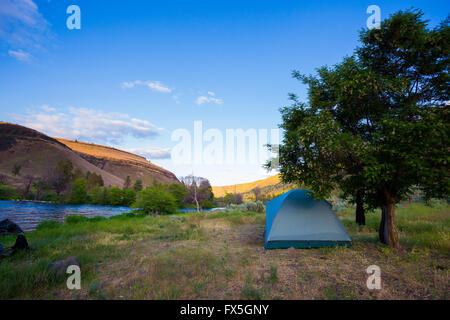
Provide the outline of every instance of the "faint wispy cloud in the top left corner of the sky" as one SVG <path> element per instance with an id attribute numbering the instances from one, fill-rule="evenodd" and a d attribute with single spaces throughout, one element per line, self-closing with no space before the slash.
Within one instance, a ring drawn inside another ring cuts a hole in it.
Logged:
<path id="1" fill-rule="evenodd" d="M 0 39 L 14 49 L 9 52 L 11 56 L 23 58 L 23 55 L 14 55 L 19 49 L 43 49 L 42 43 L 52 37 L 49 26 L 32 0 L 0 1 Z"/>

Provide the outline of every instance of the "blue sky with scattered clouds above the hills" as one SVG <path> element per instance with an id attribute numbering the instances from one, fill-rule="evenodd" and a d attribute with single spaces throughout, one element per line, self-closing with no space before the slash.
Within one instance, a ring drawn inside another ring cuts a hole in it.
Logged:
<path id="1" fill-rule="evenodd" d="M 80 29 L 68 28 L 70 5 Z M 281 138 L 279 108 L 290 92 L 306 101 L 292 70 L 351 55 L 370 5 L 381 19 L 420 8 L 431 26 L 450 11 L 432 0 L 0 0 L 0 120 L 212 185 L 262 179 L 276 173 L 262 163 Z M 240 149 L 238 129 L 256 140 Z"/>

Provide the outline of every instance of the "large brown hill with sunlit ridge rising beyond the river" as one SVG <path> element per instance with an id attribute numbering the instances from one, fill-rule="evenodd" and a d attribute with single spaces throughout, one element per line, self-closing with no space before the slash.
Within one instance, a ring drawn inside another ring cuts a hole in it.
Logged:
<path id="1" fill-rule="evenodd" d="M 125 151 L 55 139 L 17 124 L 0 122 L 0 173 L 6 175 L 8 183 L 19 185 L 27 174 L 42 177 L 67 159 L 83 172 L 101 175 L 105 186 L 123 187 L 127 175 L 133 181 L 142 179 L 144 185 L 178 181 L 172 172 Z M 12 174 L 15 164 L 22 167 L 20 176 Z"/>

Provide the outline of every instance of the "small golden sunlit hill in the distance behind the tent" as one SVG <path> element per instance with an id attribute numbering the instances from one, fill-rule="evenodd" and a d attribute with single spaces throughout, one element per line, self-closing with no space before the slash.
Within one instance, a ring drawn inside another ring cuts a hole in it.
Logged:
<path id="1" fill-rule="evenodd" d="M 274 175 L 266 179 L 256 180 L 248 183 L 236 185 L 212 187 L 215 197 L 223 197 L 225 193 L 241 193 L 244 200 L 254 200 L 252 192 L 256 187 L 261 189 L 261 194 L 265 196 L 277 196 L 285 191 L 295 188 L 294 184 L 283 184 L 279 175 Z"/>

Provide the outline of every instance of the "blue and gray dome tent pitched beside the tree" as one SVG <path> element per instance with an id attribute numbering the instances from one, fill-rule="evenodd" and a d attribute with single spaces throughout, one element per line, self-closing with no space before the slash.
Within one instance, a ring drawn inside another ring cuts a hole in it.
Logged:
<path id="1" fill-rule="evenodd" d="M 266 249 L 350 245 L 331 205 L 314 200 L 307 190 L 290 190 L 266 204 Z"/>

